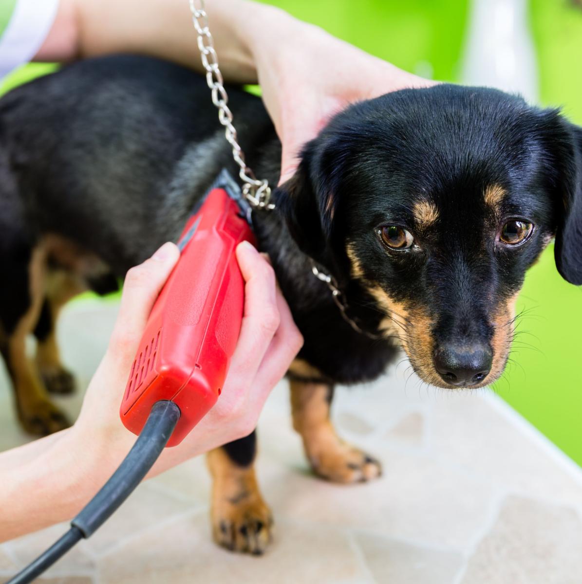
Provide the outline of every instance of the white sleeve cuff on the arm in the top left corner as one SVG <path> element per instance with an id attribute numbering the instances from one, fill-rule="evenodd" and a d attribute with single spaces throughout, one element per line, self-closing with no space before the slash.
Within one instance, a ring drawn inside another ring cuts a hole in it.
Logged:
<path id="1" fill-rule="evenodd" d="M 53 26 L 59 0 L 16 0 L 0 37 L 0 78 L 30 61 Z"/>

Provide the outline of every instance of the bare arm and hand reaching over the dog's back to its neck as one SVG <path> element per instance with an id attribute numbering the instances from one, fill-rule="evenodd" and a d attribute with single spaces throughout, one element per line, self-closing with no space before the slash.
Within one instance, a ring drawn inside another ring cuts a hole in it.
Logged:
<path id="1" fill-rule="evenodd" d="M 293 175 L 303 144 L 349 103 L 432 84 L 273 6 L 207 0 L 206 10 L 224 78 L 261 84 L 283 144 L 280 182 Z M 188 1 L 61 0 L 37 58 L 119 52 L 154 55 L 202 72 Z"/>

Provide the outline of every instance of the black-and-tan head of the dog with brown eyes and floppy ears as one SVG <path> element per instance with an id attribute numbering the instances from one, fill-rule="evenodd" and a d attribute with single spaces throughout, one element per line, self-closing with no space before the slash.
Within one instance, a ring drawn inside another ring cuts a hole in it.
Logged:
<path id="1" fill-rule="evenodd" d="M 515 298 L 552 237 L 557 269 L 582 284 L 582 130 L 500 91 L 439 85 L 351 106 L 282 191 L 300 248 L 358 280 L 439 387 L 500 376 Z"/>

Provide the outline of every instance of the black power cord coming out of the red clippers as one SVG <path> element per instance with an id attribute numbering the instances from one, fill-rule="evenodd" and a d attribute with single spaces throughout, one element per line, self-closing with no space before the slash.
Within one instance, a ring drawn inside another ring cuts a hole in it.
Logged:
<path id="1" fill-rule="evenodd" d="M 81 538 L 87 538 L 99 529 L 153 467 L 179 418 L 180 409 L 174 402 L 156 402 L 132 449 L 101 490 L 71 521 L 71 529 L 6 584 L 32 582 Z"/>

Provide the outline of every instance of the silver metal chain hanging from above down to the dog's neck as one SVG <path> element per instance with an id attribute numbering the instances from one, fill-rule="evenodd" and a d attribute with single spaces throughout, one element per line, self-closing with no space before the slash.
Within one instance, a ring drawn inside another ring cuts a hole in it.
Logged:
<path id="1" fill-rule="evenodd" d="M 264 180 L 258 180 L 254 172 L 247 166 L 244 152 L 238 144 L 237 131 L 233 125 L 233 112 L 228 107 L 228 95 L 224 89 L 224 79 L 219 69 L 218 56 L 214 49 L 214 40 L 208 27 L 204 0 L 189 0 L 192 22 L 198 33 L 198 48 L 202 66 L 206 70 L 206 83 L 212 90 L 212 103 L 219 110 L 219 121 L 224 126 L 224 135 L 233 148 L 233 158 L 237 163 L 238 176 L 242 180 L 242 194 L 252 207 L 271 210 L 275 205 L 271 202 L 271 187 Z M 200 8 L 196 8 L 196 3 Z"/>

